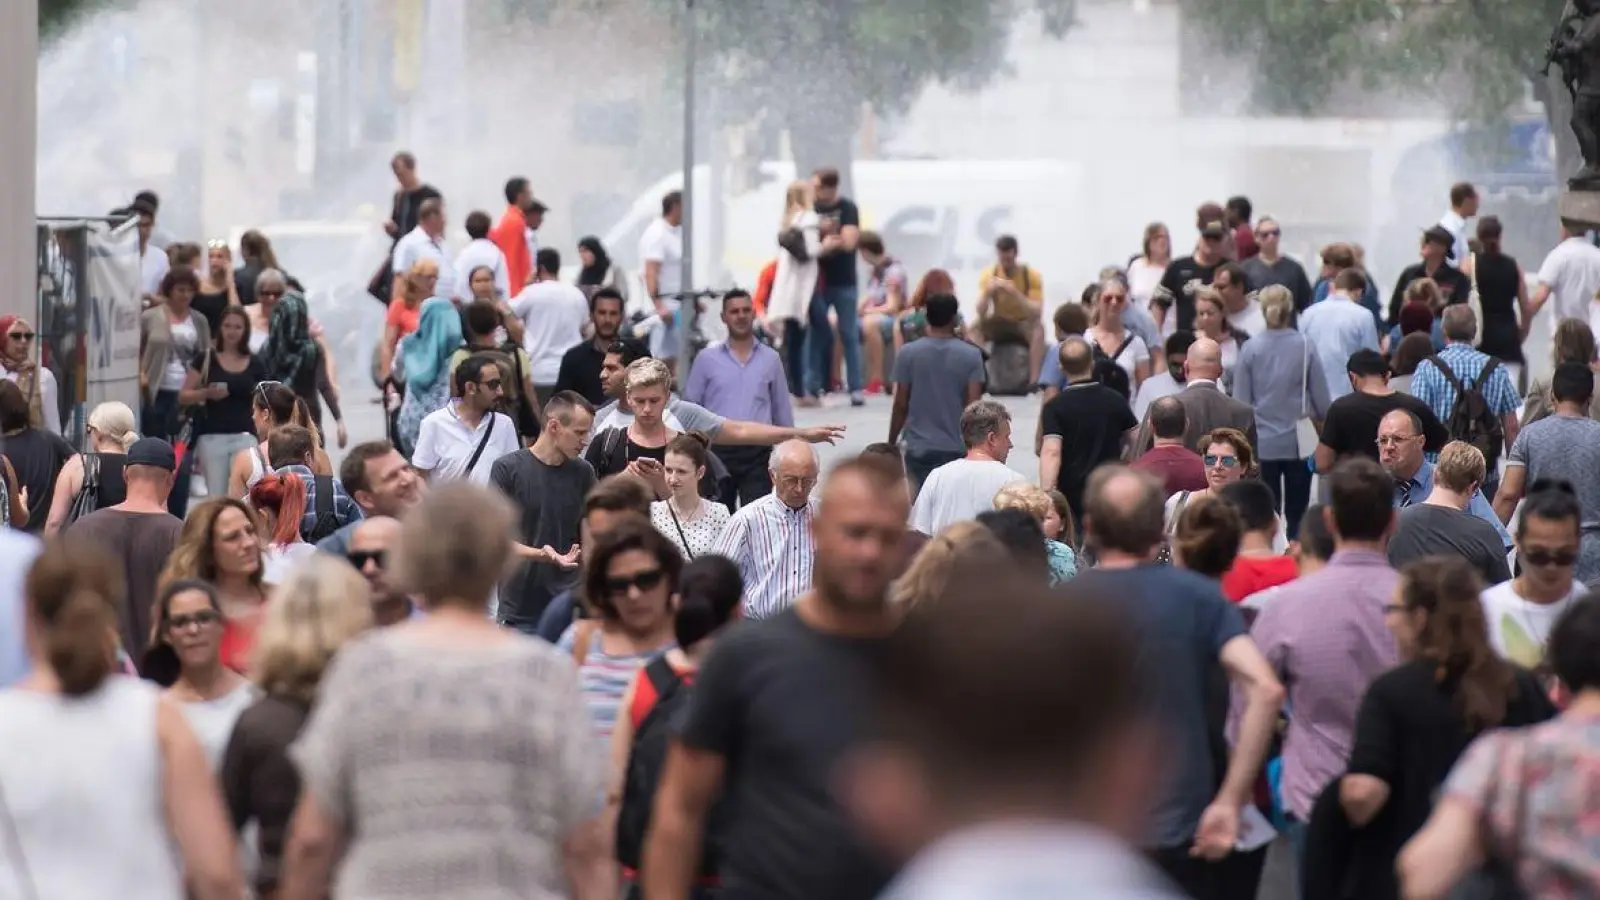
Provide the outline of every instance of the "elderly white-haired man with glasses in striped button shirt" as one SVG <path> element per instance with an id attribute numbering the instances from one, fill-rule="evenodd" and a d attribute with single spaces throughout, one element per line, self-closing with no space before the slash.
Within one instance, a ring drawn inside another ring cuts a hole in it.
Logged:
<path id="1" fill-rule="evenodd" d="M 768 463 L 773 492 L 733 514 L 712 552 L 739 565 L 746 618 L 771 618 L 811 589 L 816 487 L 821 463 L 805 440 L 786 440 Z"/>

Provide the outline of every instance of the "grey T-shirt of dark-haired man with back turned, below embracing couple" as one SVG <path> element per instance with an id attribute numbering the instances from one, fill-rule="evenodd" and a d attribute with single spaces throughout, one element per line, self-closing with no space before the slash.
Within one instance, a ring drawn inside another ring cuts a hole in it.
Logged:
<path id="1" fill-rule="evenodd" d="M 918 338 L 894 356 L 894 384 L 910 389 L 906 410 L 906 450 L 912 453 L 966 450 L 962 410 L 968 384 L 984 383 L 984 352 L 960 338 Z"/>

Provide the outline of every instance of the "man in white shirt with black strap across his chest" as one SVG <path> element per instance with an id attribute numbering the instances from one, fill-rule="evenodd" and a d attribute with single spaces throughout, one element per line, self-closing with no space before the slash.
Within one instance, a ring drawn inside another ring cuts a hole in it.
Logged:
<path id="1" fill-rule="evenodd" d="M 494 412 L 504 392 L 501 370 L 483 354 L 456 368 L 456 399 L 422 420 L 411 464 L 432 480 L 490 484 L 494 460 L 522 450 L 510 416 Z"/>

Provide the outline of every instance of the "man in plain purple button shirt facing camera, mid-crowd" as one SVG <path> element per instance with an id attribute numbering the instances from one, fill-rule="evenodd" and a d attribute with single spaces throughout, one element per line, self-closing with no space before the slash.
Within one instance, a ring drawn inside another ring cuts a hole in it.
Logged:
<path id="1" fill-rule="evenodd" d="M 784 364 L 778 351 L 755 340 L 755 306 L 749 293 L 734 290 L 722 298 L 722 323 L 728 327 L 728 340 L 694 357 L 683 399 L 725 420 L 794 428 Z M 718 444 L 712 452 L 728 468 L 722 496 L 728 509 L 771 493 L 771 447 Z"/>

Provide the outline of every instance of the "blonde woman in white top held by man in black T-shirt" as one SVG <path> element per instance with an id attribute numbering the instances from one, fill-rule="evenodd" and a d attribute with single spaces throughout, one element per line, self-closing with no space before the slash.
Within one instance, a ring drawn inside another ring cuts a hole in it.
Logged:
<path id="1" fill-rule="evenodd" d="M 806 372 L 806 322 L 811 295 L 821 267 L 822 223 L 813 208 L 816 195 L 810 181 L 795 181 L 784 192 L 784 215 L 778 221 L 778 275 L 766 299 L 766 333 L 782 335 L 784 362 L 789 370 L 789 392 L 803 404 L 814 404 L 811 391 L 821 372 Z M 811 376 L 808 384 L 806 375 Z"/>

